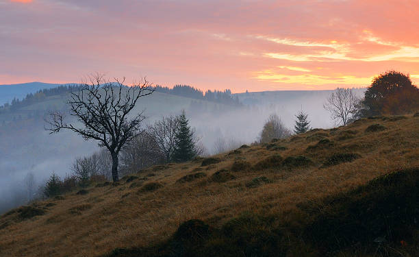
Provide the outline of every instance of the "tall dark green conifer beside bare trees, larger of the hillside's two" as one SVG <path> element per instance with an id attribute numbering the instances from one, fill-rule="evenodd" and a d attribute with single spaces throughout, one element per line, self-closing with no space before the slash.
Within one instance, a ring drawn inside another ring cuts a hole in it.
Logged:
<path id="1" fill-rule="evenodd" d="M 186 162 L 196 156 L 194 132 L 191 130 L 185 111 L 179 116 L 179 128 L 175 135 L 175 162 Z"/>

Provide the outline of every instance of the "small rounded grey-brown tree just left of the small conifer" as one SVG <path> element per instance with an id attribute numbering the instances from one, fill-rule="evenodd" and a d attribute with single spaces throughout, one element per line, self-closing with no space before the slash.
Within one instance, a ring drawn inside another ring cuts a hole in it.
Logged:
<path id="1" fill-rule="evenodd" d="M 270 114 L 260 134 L 260 143 L 269 143 L 274 138 L 285 138 L 290 134 L 278 115 Z"/>

